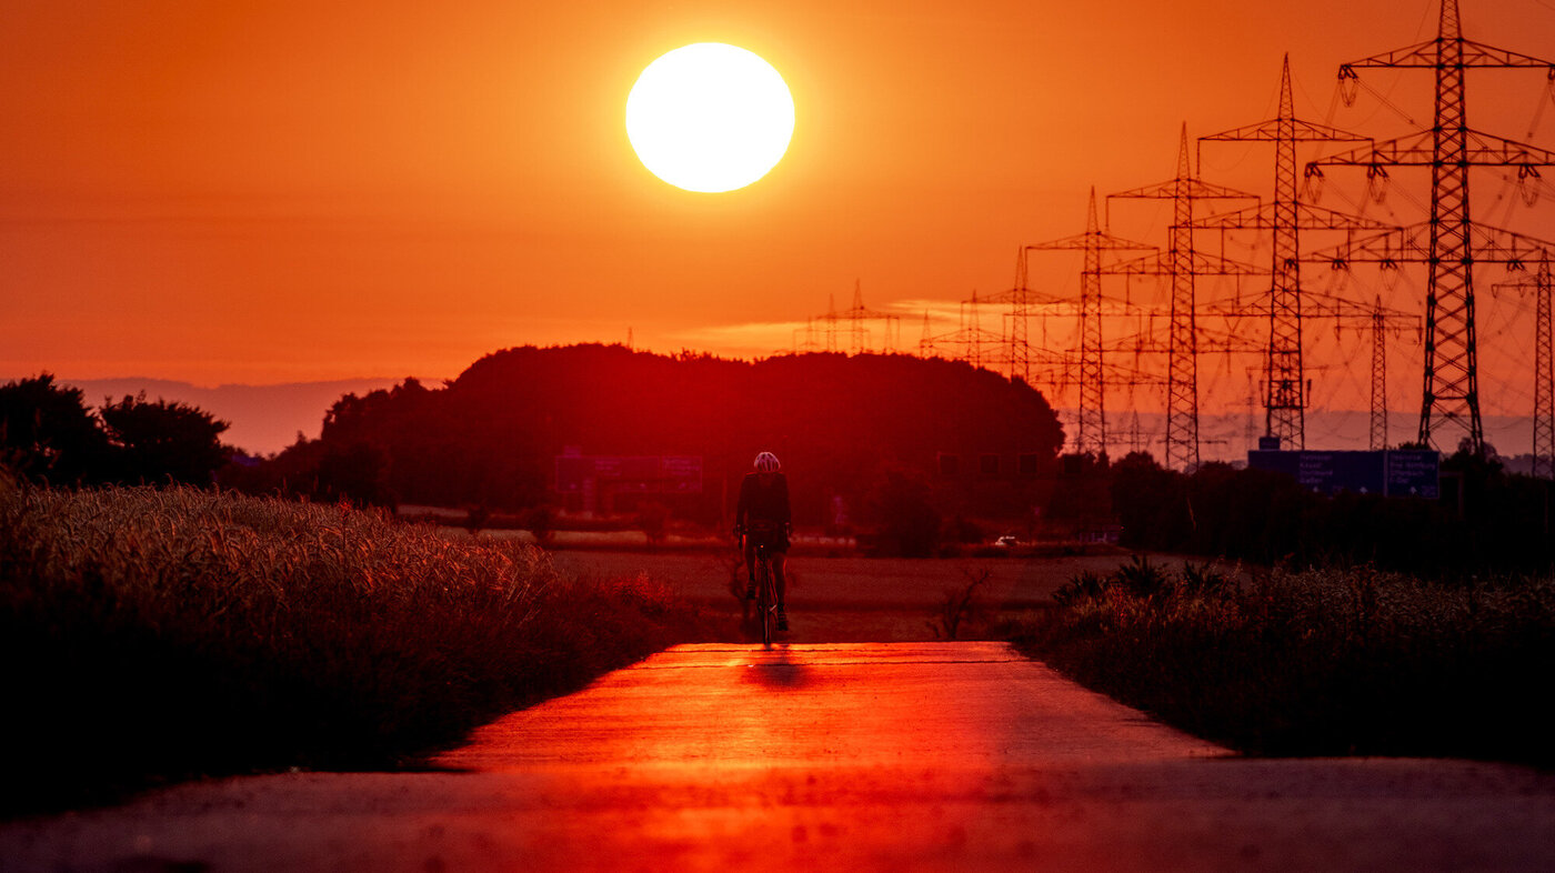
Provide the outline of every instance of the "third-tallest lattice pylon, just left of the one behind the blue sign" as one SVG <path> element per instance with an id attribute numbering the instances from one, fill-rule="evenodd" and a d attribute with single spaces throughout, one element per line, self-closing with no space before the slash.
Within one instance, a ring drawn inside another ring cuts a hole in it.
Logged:
<path id="1" fill-rule="evenodd" d="M 1171 279 L 1171 344 L 1166 355 L 1166 465 L 1177 470 L 1197 467 L 1199 341 L 1194 321 L 1194 275 L 1210 271 L 1200 269 L 1207 255 L 1194 251 L 1193 204 L 1218 199 L 1256 201 L 1258 196 L 1196 179 L 1188 162 L 1188 124 L 1183 124 L 1176 177 L 1107 195 L 1107 198 L 1172 201 L 1171 244 L 1166 249 L 1165 265 L 1160 265 L 1165 266 L 1165 275 Z M 1124 271 L 1120 269 L 1120 272 Z M 1154 269 L 1141 269 L 1140 272 L 1154 272 Z"/>

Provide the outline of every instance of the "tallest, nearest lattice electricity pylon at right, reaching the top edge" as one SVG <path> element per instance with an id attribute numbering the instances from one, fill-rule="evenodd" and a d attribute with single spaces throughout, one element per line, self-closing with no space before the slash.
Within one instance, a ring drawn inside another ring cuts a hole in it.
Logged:
<path id="1" fill-rule="evenodd" d="M 1441 0 L 1435 39 L 1339 67 L 1347 103 L 1354 96 L 1358 67 L 1435 70 L 1435 123 L 1429 131 L 1325 157 L 1309 167 L 1367 167 L 1373 176 L 1386 176 L 1384 167 L 1431 167 L 1431 218 L 1426 223 L 1429 243 L 1420 246 L 1418 230 L 1410 229 L 1417 230 L 1413 244 L 1407 246 L 1409 251 L 1398 252 L 1403 260 L 1423 260 L 1429 265 L 1420 442 L 1434 445 L 1432 436 L 1440 419 L 1465 428 L 1473 451 L 1482 453 L 1485 429 L 1479 414 L 1473 268 L 1477 261 L 1497 260 L 1483 257 L 1487 252 L 1499 249 L 1507 257 L 1521 260 L 1530 251 L 1519 246 L 1518 235 L 1507 237 L 1508 232 L 1487 229 L 1471 219 L 1468 170 L 1518 167 L 1524 176 L 1536 174 L 1535 167 L 1555 165 L 1555 153 L 1471 129 L 1463 73 L 1471 67 L 1549 70 L 1555 68 L 1555 62 L 1463 39 L 1457 0 Z M 1336 261 L 1350 260 L 1351 251 L 1351 246 L 1340 249 Z M 1381 251 L 1373 246 L 1368 258 Z"/>

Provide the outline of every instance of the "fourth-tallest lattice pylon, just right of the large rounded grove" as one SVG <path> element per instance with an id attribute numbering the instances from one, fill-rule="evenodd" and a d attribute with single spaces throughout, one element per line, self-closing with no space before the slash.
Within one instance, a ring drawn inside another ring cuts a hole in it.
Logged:
<path id="1" fill-rule="evenodd" d="M 1082 251 L 1085 266 L 1079 274 L 1079 428 L 1075 448 L 1081 453 L 1101 456 L 1107 451 L 1107 398 L 1102 370 L 1101 331 L 1101 254 L 1118 251 L 1155 251 L 1155 246 L 1112 237 L 1096 221 L 1096 188 L 1090 188 L 1090 207 L 1085 212 L 1085 232 L 1036 243 L 1028 251 Z M 1022 275 L 1025 258 L 1022 257 Z"/>

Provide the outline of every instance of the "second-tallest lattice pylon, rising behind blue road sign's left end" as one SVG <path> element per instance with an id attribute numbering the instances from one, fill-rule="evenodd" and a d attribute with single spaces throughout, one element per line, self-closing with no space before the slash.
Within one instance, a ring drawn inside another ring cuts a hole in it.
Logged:
<path id="1" fill-rule="evenodd" d="M 1303 229 L 1333 230 L 1336 227 L 1390 226 L 1347 216 L 1297 201 L 1295 143 L 1298 142 L 1370 142 L 1361 137 L 1303 121 L 1295 117 L 1291 95 L 1291 56 L 1280 68 L 1280 110 L 1256 124 L 1235 128 L 1205 142 L 1272 142 L 1274 201 L 1224 216 L 1210 216 L 1199 227 L 1222 230 L 1272 230 L 1274 266 L 1269 283 L 1269 350 L 1264 359 L 1264 436 L 1280 437 L 1286 448 L 1306 448 L 1306 373 L 1302 366 L 1302 246 Z"/>

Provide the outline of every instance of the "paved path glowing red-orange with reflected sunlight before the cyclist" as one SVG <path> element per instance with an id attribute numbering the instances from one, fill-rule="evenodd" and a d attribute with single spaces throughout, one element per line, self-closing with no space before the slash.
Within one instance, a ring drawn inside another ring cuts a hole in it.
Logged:
<path id="1" fill-rule="evenodd" d="M 1552 775 L 1239 759 L 992 643 L 684 646 L 439 764 L 11 823 L 0 868 L 1555 868 Z"/>

